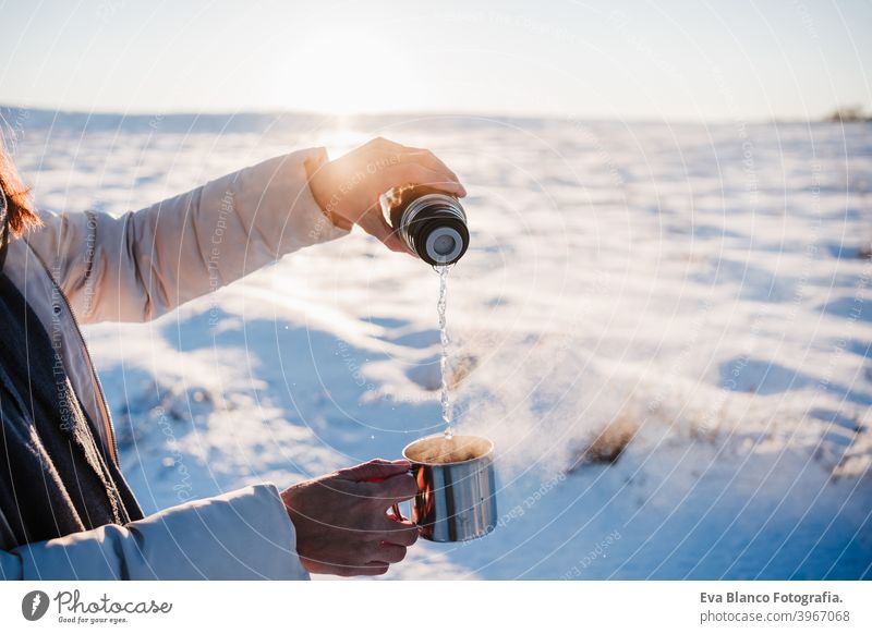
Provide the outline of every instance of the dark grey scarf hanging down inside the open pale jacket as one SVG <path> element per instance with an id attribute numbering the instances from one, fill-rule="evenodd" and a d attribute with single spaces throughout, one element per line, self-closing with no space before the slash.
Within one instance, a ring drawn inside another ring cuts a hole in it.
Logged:
<path id="1" fill-rule="evenodd" d="M 48 332 L 2 272 L 0 205 L 0 548 L 125 524 L 142 511 L 57 358 Z M 57 363 L 56 363 L 57 362 Z"/>

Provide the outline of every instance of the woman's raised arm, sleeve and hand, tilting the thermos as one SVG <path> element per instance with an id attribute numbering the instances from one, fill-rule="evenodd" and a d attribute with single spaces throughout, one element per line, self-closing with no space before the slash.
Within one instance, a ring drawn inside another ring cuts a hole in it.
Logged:
<path id="1" fill-rule="evenodd" d="M 431 151 L 377 138 L 334 161 L 320 148 L 277 157 L 120 218 L 43 214 L 27 241 L 82 321 L 143 321 L 352 224 L 407 251 L 378 197 L 413 183 L 465 195 Z"/>

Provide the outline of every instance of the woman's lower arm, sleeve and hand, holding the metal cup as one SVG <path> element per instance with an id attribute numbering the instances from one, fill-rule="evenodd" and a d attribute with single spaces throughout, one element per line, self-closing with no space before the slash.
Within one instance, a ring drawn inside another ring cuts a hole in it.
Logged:
<path id="1" fill-rule="evenodd" d="M 411 464 L 371 460 L 279 493 L 271 484 L 0 550 L 7 580 L 307 580 L 377 575 L 417 539 L 387 509 L 417 493 Z M 5 522 L 0 512 L 0 522 Z M 2 524 L 0 524 L 2 525 Z"/>

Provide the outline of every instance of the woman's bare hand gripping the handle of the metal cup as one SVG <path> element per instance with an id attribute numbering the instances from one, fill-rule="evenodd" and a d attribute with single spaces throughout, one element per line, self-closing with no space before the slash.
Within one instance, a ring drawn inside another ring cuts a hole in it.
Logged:
<path id="1" fill-rule="evenodd" d="M 417 493 L 411 463 L 372 460 L 281 493 L 308 572 L 342 576 L 385 574 L 417 539 L 417 527 L 387 514 Z M 377 483 L 368 480 L 380 480 Z"/>

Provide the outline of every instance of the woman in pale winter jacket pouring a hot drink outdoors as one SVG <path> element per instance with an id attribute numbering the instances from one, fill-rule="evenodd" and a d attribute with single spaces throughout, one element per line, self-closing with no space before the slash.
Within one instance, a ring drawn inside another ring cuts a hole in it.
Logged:
<path id="1" fill-rule="evenodd" d="M 0 138 L 0 575 L 293 580 L 401 561 L 417 533 L 386 510 L 416 492 L 404 461 L 144 517 L 77 320 L 154 319 L 355 223 L 405 251 L 377 198 L 411 183 L 465 195 L 432 153 L 379 138 L 335 161 L 320 148 L 278 157 L 121 218 L 56 216 L 32 208 Z"/>

